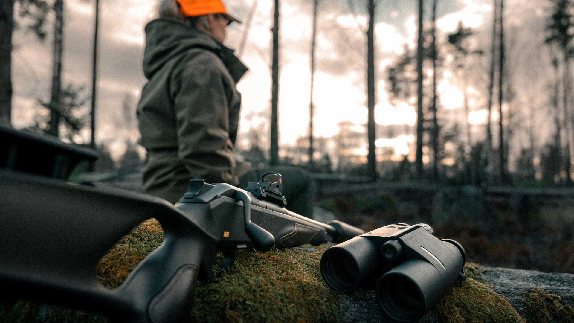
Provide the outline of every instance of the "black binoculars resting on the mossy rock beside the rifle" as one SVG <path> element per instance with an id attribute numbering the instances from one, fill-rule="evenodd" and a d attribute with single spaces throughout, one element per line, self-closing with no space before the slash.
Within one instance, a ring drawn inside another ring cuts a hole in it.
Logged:
<path id="1" fill-rule="evenodd" d="M 464 248 L 439 240 L 427 224 L 383 226 L 335 245 L 321 257 L 321 275 L 334 290 L 350 293 L 377 281 L 381 309 L 395 321 L 419 320 L 464 279 Z"/>

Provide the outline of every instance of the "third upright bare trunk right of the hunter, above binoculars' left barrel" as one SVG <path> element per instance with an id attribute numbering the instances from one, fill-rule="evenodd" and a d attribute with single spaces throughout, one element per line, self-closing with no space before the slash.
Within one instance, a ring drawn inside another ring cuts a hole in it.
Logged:
<path id="1" fill-rule="evenodd" d="M 369 0 L 369 30 L 367 31 L 367 176 L 377 180 L 377 158 L 375 157 L 375 2 Z"/>

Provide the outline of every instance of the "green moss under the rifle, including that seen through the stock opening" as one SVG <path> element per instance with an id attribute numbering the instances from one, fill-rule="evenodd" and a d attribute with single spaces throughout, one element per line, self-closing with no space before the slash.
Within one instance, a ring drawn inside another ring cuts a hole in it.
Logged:
<path id="1" fill-rule="evenodd" d="M 96 273 L 104 286 L 121 285 L 130 272 L 161 245 L 157 220 L 145 221 L 123 237 L 100 260 Z M 338 294 L 323 283 L 319 263 L 324 249 L 267 253 L 239 252 L 235 266 L 218 282 L 199 282 L 191 322 L 336 322 Z M 218 255 L 214 274 L 219 271 Z M 107 322 L 99 314 L 38 302 L 0 302 L 2 322 Z"/>

